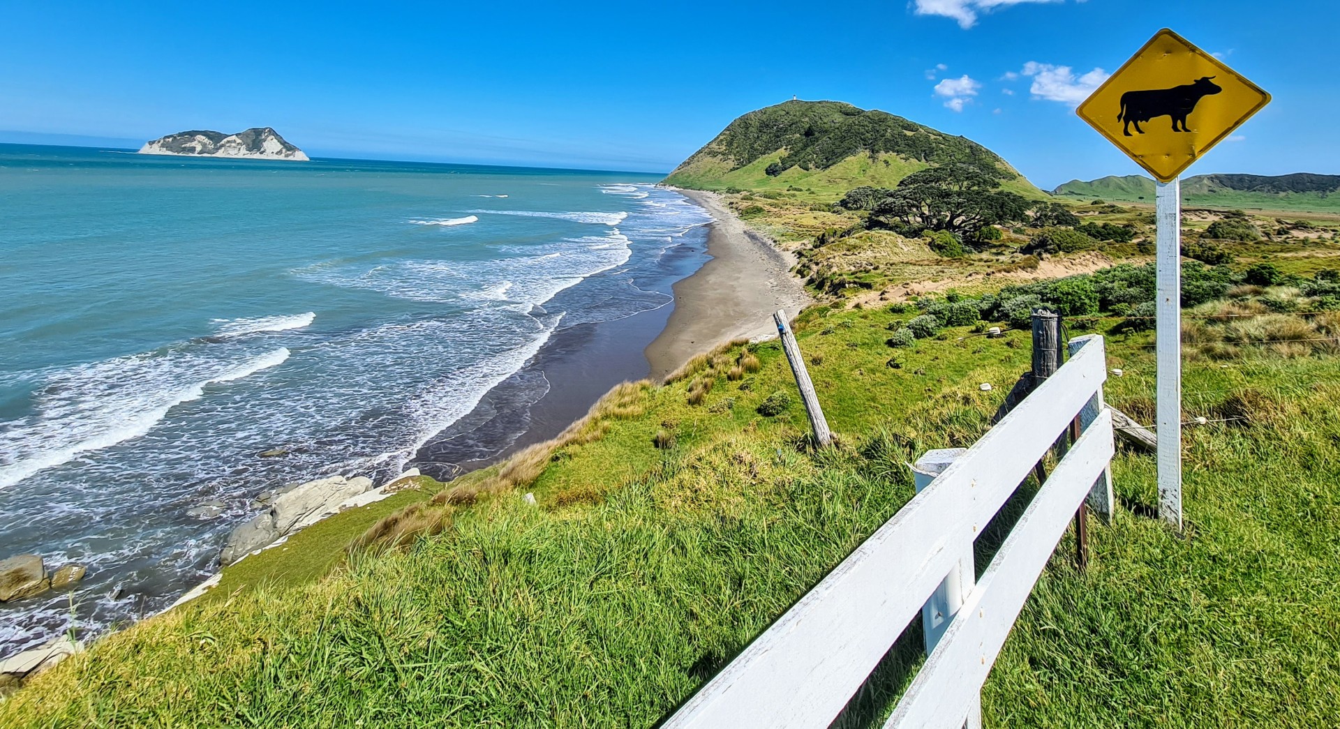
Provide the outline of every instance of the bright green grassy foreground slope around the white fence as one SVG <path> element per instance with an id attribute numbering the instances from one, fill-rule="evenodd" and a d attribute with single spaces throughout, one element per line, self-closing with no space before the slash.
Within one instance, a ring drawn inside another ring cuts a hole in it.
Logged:
<path id="1" fill-rule="evenodd" d="M 906 461 L 978 438 L 1028 367 L 1021 331 L 890 348 L 914 314 L 839 304 L 796 322 L 835 448 L 807 445 L 777 343 L 734 344 L 598 406 L 505 486 L 508 466 L 446 485 L 474 496 L 442 500 L 445 531 L 110 635 L 8 698 L 0 726 L 653 726 L 911 499 Z M 1124 371 L 1110 402 L 1147 422 L 1152 335 L 1097 324 Z M 1152 460 L 1119 454 L 1115 523 L 1091 523 L 1085 572 L 1071 536 L 1059 545 L 984 689 L 988 726 L 1331 722 L 1335 366 L 1268 347 L 1186 363 L 1185 419 L 1207 422 L 1185 430 L 1185 533 L 1151 519 Z M 789 403 L 760 414 L 776 391 Z M 921 645 L 914 623 L 835 726 L 879 726 Z"/>

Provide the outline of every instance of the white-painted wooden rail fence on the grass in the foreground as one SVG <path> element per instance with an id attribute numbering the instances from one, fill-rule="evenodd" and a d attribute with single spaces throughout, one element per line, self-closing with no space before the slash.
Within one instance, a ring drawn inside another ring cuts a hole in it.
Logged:
<path id="1" fill-rule="evenodd" d="M 1100 336 L 977 441 L 693 695 L 669 729 L 823 728 L 951 572 L 1107 377 Z M 1029 503 L 886 726 L 977 724 L 982 683 L 1033 583 L 1091 489 L 1108 488 L 1112 419 L 1084 432 Z M 965 582 L 972 582 L 972 571 Z"/>

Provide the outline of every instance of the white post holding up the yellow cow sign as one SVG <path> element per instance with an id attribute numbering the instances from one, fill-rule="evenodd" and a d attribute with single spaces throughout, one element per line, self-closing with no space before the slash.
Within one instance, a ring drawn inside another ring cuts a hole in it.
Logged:
<path id="1" fill-rule="evenodd" d="M 1182 181 L 1158 182 L 1158 470 L 1159 519 L 1182 529 Z"/>

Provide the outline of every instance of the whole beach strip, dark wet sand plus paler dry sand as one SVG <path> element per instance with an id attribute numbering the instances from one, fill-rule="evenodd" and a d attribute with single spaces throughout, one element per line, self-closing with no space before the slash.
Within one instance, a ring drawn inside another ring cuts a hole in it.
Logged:
<path id="1" fill-rule="evenodd" d="M 520 371 L 419 449 L 410 465 L 448 480 L 498 462 L 557 436 L 615 385 L 663 378 L 730 339 L 775 336 L 775 311 L 795 315 L 809 304 L 789 273 L 788 255 L 746 229 L 714 193 L 679 192 L 717 221 L 708 230 L 710 260 L 702 263 L 701 248 L 682 247 L 666 261 L 665 280 L 639 281 L 673 291 L 674 303 L 555 332 Z"/>

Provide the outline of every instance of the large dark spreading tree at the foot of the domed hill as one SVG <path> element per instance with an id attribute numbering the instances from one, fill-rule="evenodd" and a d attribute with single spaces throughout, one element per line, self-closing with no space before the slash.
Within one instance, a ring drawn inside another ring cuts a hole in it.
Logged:
<path id="1" fill-rule="evenodd" d="M 986 225 L 1021 221 L 1028 201 L 998 190 L 1001 176 L 965 163 L 915 172 L 875 202 L 870 225 L 909 235 L 949 230 L 967 239 Z"/>

